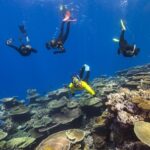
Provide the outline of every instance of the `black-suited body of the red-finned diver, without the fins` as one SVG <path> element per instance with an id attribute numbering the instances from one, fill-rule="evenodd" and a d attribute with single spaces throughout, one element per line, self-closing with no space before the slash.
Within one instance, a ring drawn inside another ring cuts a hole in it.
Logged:
<path id="1" fill-rule="evenodd" d="M 67 27 L 66 27 L 66 32 L 64 33 L 65 23 L 67 24 Z M 64 53 L 65 52 L 64 43 L 68 38 L 69 31 L 70 31 L 70 22 L 63 21 L 61 24 L 61 30 L 60 30 L 60 34 L 59 34 L 58 38 L 47 42 L 46 48 L 47 49 L 51 49 L 51 48 L 58 49 L 53 52 L 54 54 Z"/>

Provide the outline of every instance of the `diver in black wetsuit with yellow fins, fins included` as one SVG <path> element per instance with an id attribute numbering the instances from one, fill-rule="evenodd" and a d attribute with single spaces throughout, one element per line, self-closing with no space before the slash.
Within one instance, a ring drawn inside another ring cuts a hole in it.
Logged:
<path id="1" fill-rule="evenodd" d="M 118 55 L 122 54 L 125 57 L 137 56 L 140 49 L 137 48 L 135 44 L 134 45 L 128 44 L 128 42 L 124 39 L 124 33 L 126 31 L 126 27 L 122 20 L 120 21 L 120 23 L 122 28 L 120 39 L 116 39 L 116 38 L 113 39 L 114 42 L 119 42 Z"/>

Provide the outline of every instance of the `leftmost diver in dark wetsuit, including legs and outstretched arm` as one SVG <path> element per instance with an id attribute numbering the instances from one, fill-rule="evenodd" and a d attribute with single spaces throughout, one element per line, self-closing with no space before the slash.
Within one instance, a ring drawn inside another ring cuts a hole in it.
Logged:
<path id="1" fill-rule="evenodd" d="M 30 39 L 27 35 L 27 32 L 24 28 L 24 25 L 20 25 L 19 29 L 20 29 L 20 32 L 25 37 L 26 44 L 24 44 L 22 42 L 22 39 L 20 39 L 21 45 L 19 47 L 15 46 L 13 44 L 13 39 L 11 38 L 11 39 L 6 41 L 6 45 L 13 48 L 13 49 L 15 49 L 22 56 L 29 56 L 29 55 L 31 55 L 31 53 L 37 53 L 37 50 L 32 48 L 31 45 L 30 45 Z"/>

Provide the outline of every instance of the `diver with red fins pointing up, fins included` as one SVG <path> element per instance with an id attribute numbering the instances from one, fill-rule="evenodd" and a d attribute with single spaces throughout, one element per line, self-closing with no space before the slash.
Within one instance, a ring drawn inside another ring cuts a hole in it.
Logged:
<path id="1" fill-rule="evenodd" d="M 45 45 L 48 50 L 57 49 L 56 51 L 53 52 L 54 54 L 65 53 L 66 51 L 64 48 L 64 43 L 66 42 L 70 32 L 70 22 L 76 21 L 76 19 L 71 20 L 70 17 L 71 17 L 70 11 L 66 11 L 65 17 L 62 20 L 59 36 L 56 39 L 48 41 Z M 64 32 L 65 23 L 66 23 L 66 31 Z"/>

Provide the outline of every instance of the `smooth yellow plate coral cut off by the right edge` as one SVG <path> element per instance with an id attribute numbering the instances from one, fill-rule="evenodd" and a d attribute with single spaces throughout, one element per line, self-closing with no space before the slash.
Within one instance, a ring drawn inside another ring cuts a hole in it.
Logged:
<path id="1" fill-rule="evenodd" d="M 149 122 L 144 122 L 144 121 L 135 122 L 134 132 L 141 142 L 150 146 L 150 123 Z"/>

